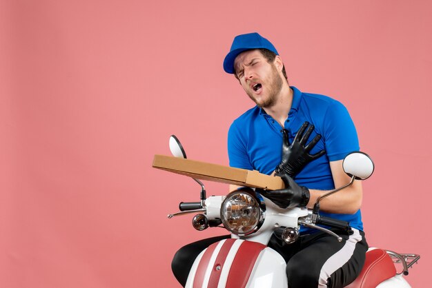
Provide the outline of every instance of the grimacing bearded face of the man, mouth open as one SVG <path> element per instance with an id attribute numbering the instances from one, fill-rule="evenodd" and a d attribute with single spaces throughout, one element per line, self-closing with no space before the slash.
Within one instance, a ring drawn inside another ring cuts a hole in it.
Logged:
<path id="1" fill-rule="evenodd" d="M 248 50 L 237 56 L 234 68 L 244 91 L 259 107 L 275 105 L 283 85 L 275 63 L 268 63 L 259 50 Z"/>

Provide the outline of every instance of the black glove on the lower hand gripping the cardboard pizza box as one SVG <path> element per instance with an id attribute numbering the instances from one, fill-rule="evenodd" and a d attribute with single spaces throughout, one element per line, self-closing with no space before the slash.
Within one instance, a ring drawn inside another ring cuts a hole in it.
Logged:
<path id="1" fill-rule="evenodd" d="M 255 191 L 284 209 L 295 206 L 305 207 L 309 202 L 309 198 L 311 198 L 309 189 L 304 186 L 299 186 L 294 182 L 293 178 L 286 174 L 277 176 L 280 176 L 282 181 L 284 181 L 284 189 L 271 191 L 257 188 Z"/>

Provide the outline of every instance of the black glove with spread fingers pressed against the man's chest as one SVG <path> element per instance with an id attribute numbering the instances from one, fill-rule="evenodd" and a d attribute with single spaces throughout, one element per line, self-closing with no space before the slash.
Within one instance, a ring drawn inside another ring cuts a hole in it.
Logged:
<path id="1" fill-rule="evenodd" d="M 295 135 L 294 141 L 291 145 L 289 143 L 288 131 L 285 129 L 282 130 L 282 133 L 284 134 L 284 142 L 282 143 L 282 161 L 275 168 L 277 174 L 288 174 L 291 177 L 295 177 L 295 175 L 302 171 L 306 164 L 326 153 L 324 150 L 314 155 L 308 153 L 321 138 L 321 135 L 317 134 L 317 136 L 315 136 L 315 138 L 306 145 L 306 141 L 308 141 L 308 138 L 311 136 L 314 129 L 313 125 L 308 126 L 308 122 L 303 123 L 299 132 Z M 306 130 L 306 127 L 308 130 Z M 304 130 L 306 130 L 306 133 L 304 133 Z"/>

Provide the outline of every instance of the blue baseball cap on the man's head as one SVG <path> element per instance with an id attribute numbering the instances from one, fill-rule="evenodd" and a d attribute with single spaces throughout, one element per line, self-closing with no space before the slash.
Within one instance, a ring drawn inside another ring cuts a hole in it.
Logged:
<path id="1" fill-rule="evenodd" d="M 224 59 L 224 70 L 226 73 L 234 74 L 234 60 L 240 53 L 251 50 L 265 48 L 274 52 L 276 55 L 277 50 L 270 41 L 259 35 L 257 32 L 237 35 L 234 38 L 233 45 L 231 45 L 230 52 L 225 56 Z"/>

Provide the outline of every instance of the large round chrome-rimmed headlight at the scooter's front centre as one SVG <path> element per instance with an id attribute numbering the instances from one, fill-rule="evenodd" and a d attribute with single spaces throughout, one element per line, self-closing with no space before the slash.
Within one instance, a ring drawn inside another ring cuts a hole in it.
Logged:
<path id="1" fill-rule="evenodd" d="M 255 232 L 262 224 L 261 216 L 257 198 L 241 189 L 228 194 L 222 202 L 222 223 L 233 234 L 244 236 Z"/>

